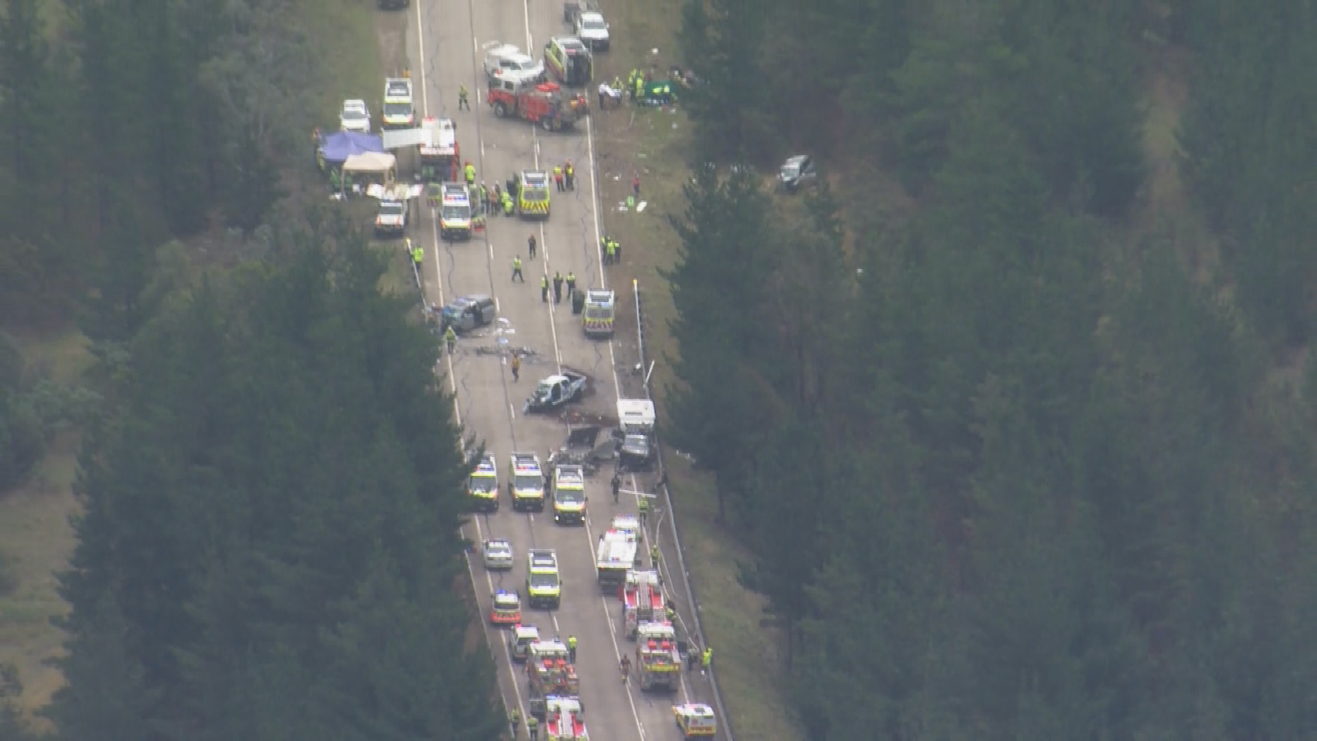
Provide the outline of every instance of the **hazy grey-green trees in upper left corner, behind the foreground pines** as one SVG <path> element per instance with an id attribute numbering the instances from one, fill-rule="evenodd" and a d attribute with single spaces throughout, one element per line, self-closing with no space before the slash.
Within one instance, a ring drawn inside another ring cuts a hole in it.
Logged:
<path id="1" fill-rule="evenodd" d="M 104 297 L 101 270 L 74 268 L 116 262 L 125 236 L 149 254 L 170 236 L 208 229 L 212 216 L 246 232 L 262 222 L 311 127 L 308 83 L 319 73 L 299 17 L 308 8 L 4 4 L 0 322 L 57 322 L 86 294 Z M 137 222 L 130 235 L 125 214 Z M 105 323 L 115 327 L 96 331 L 126 336 L 133 320 Z"/>

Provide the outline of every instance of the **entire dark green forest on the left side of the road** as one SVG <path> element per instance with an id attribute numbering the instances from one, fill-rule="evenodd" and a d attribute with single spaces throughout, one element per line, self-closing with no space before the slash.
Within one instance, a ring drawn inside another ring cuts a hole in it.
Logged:
<path id="1" fill-rule="evenodd" d="M 62 386 L 0 332 L 0 493 L 82 432 L 55 738 L 506 726 L 436 340 L 363 235 L 279 203 L 308 5 L 0 3 L 0 328 L 76 326 L 96 360 Z M 20 692 L 0 666 L 5 741 L 36 737 Z"/>

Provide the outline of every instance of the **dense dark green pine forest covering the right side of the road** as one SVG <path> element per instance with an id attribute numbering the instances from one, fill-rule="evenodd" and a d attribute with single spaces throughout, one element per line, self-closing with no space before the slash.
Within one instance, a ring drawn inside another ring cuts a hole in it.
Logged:
<path id="1" fill-rule="evenodd" d="M 809 736 L 1317 733 L 1317 7 L 682 20 L 705 146 L 669 435 L 753 554 Z M 1171 59 L 1188 214 L 1137 222 Z M 722 166 L 788 144 L 846 191 Z"/>

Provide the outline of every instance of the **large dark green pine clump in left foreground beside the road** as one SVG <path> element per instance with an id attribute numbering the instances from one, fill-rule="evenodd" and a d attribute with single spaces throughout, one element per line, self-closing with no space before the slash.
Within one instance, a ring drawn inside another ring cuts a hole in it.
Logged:
<path id="1" fill-rule="evenodd" d="M 62 576 L 78 738 L 494 738 L 439 348 L 340 222 L 132 341 Z M 150 729 L 150 730 L 148 730 Z"/>

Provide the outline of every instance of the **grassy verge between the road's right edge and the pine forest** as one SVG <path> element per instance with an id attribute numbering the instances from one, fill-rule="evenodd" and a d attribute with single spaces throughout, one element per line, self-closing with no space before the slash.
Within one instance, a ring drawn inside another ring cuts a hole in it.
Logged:
<path id="1" fill-rule="evenodd" d="M 601 54 L 597 62 L 605 79 L 614 75 L 626 79 L 632 67 L 664 71 L 681 62 L 674 41 L 680 22 L 676 0 L 618 0 L 607 4 L 605 12 L 614 32 L 612 50 Z M 680 111 L 624 105 L 598 112 L 595 125 L 602 225 L 623 245 L 622 265 L 610 269 L 610 283 L 622 286 L 622 298 L 627 298 L 627 286 L 632 280 L 639 281 L 645 307 L 645 352 L 657 360 L 653 384 L 662 415 L 662 389 L 673 381 L 670 360 L 677 357 L 678 348 L 668 332 L 676 311 L 660 270 L 670 268 L 678 253 L 680 241 L 668 216 L 685 208 L 682 183 L 689 178 L 690 124 Z M 640 214 L 618 208 L 631 193 L 633 173 L 640 175 L 640 200 L 645 202 Z M 635 331 L 628 311 L 622 312 L 619 324 L 620 336 Z M 666 454 L 691 587 L 714 649 L 731 725 L 743 738 L 803 738 L 786 699 L 781 636 L 760 625 L 764 600 L 736 581 L 736 562 L 747 560 L 748 554 L 714 523 L 718 506 L 711 481 L 672 451 Z"/>

